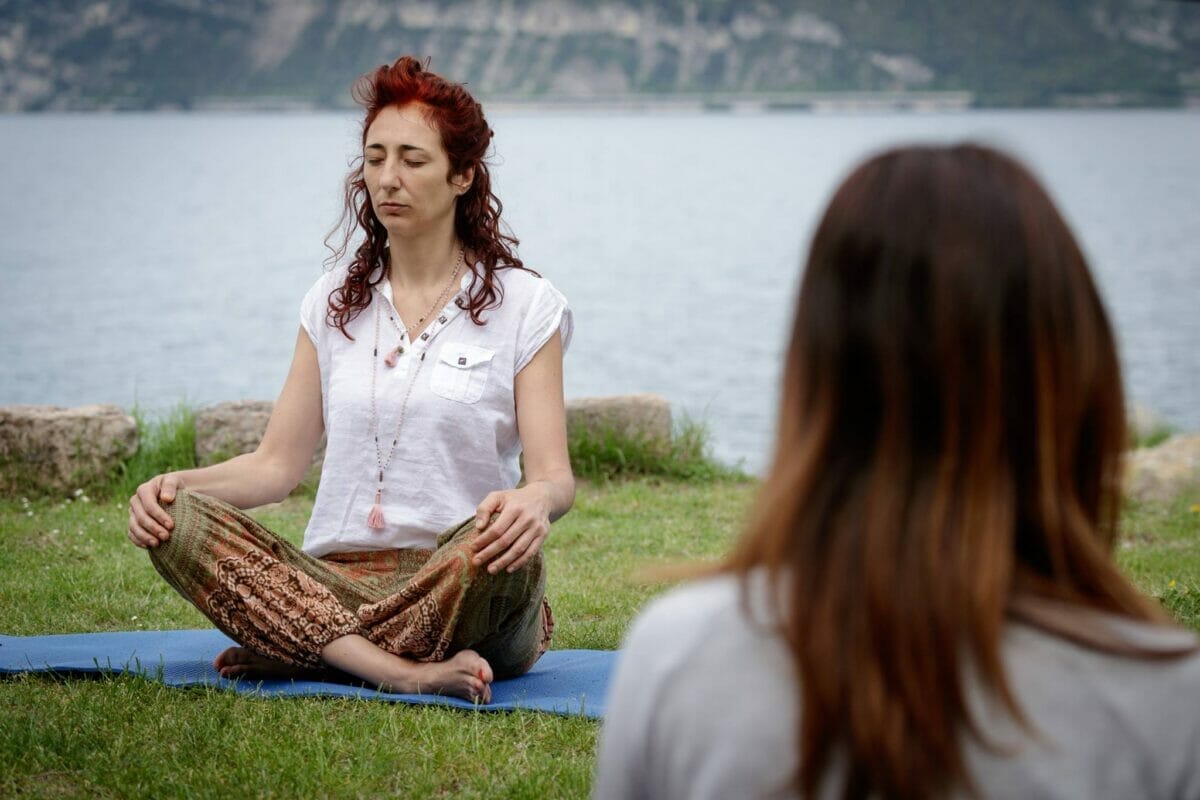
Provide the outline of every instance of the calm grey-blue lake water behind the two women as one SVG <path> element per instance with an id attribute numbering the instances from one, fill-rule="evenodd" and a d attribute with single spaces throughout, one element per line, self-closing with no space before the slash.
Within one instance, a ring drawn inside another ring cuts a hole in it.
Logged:
<path id="1" fill-rule="evenodd" d="M 769 450 L 798 265 L 880 146 L 965 137 L 1044 178 L 1092 259 L 1133 397 L 1200 429 L 1200 114 L 493 116 L 526 263 L 576 312 L 568 396 L 652 391 L 716 455 Z M 0 116 L 0 404 L 274 398 L 356 124 Z"/>

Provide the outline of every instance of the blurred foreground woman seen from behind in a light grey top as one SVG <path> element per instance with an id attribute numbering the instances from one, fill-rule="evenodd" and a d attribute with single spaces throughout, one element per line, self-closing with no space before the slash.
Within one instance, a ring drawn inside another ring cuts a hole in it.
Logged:
<path id="1" fill-rule="evenodd" d="M 1111 558 L 1124 411 L 1021 166 L 860 166 L 812 241 L 756 511 L 635 622 L 595 795 L 1200 798 L 1196 638 Z"/>

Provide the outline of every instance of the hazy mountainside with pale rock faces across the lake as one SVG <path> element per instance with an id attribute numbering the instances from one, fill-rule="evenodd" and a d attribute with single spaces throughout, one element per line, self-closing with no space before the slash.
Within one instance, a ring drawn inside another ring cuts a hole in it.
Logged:
<path id="1" fill-rule="evenodd" d="M 511 102 L 1200 104 L 1200 2 L 0 0 L 0 110 L 343 107 L 406 53 Z"/>

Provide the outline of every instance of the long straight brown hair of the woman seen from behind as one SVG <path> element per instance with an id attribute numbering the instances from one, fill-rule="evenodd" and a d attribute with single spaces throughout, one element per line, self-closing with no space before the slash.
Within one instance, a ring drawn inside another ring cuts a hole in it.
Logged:
<path id="1" fill-rule="evenodd" d="M 1110 557 L 1126 443 L 1112 330 L 1074 237 L 1014 160 L 904 148 L 816 231 L 774 459 L 726 569 L 764 567 L 799 676 L 797 788 L 974 792 L 964 675 L 1024 721 L 1014 597 L 1160 619 Z"/>

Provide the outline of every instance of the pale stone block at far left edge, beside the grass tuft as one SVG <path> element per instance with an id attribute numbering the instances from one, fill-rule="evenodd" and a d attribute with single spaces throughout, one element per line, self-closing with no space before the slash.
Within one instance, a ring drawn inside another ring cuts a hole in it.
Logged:
<path id="1" fill-rule="evenodd" d="M 109 480 L 138 449 L 138 426 L 115 405 L 0 407 L 0 491 L 72 491 Z"/>

